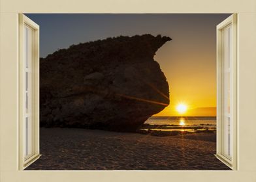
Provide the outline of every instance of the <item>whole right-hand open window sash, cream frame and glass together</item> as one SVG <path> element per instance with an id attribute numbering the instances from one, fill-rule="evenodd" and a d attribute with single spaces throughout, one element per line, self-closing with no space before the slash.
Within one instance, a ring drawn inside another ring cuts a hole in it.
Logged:
<path id="1" fill-rule="evenodd" d="M 233 170 L 236 144 L 236 14 L 217 25 L 217 158 Z"/>

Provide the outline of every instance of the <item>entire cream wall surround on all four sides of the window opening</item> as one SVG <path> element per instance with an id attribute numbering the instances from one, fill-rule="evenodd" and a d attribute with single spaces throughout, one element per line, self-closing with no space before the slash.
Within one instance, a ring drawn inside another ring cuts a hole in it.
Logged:
<path id="1" fill-rule="evenodd" d="M 75 3 L 74 3 L 75 2 Z M 256 181 L 255 0 L 0 0 L 0 181 Z M 18 171 L 18 13 L 238 13 L 238 171 Z"/>

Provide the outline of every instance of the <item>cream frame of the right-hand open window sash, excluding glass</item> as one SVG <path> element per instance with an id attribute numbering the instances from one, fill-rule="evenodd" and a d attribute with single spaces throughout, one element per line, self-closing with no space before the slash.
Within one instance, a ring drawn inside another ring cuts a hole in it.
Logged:
<path id="1" fill-rule="evenodd" d="M 217 149 L 216 149 L 216 157 L 227 166 L 229 166 L 232 170 L 237 170 L 237 36 L 236 36 L 236 14 L 232 14 L 229 18 L 225 19 L 216 27 L 217 31 Z M 223 144 L 224 136 L 223 133 L 225 132 L 223 129 L 223 93 L 222 93 L 222 86 L 223 86 L 223 72 L 221 66 L 223 65 L 223 30 L 231 26 L 231 66 L 230 66 L 230 87 L 231 87 L 231 94 L 230 94 L 230 118 L 232 123 L 232 131 L 231 131 L 231 152 L 232 158 L 225 155 L 223 153 L 223 149 L 225 144 Z"/>

